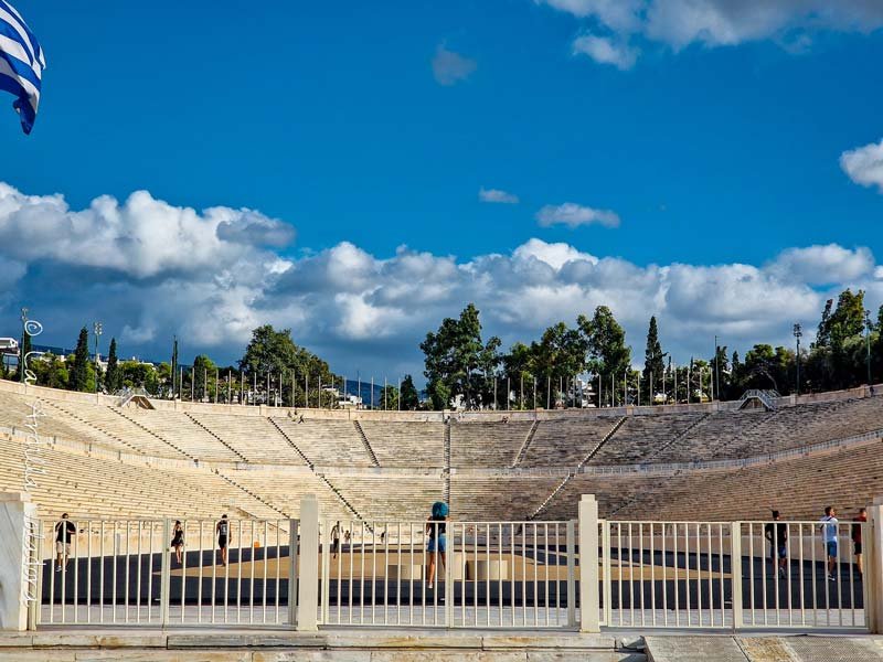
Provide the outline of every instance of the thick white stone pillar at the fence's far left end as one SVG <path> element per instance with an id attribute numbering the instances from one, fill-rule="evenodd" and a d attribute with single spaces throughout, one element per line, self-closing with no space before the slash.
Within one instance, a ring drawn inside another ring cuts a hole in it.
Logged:
<path id="1" fill-rule="evenodd" d="M 28 629 L 25 524 L 36 505 L 24 492 L 0 492 L 0 631 Z"/>

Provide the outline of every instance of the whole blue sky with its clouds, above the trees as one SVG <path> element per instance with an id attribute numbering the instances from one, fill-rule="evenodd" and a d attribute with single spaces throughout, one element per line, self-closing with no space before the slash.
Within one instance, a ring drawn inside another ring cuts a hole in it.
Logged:
<path id="1" fill-rule="evenodd" d="M 682 361 L 876 307 L 883 8 L 768 4 L 18 0 L 47 68 L 31 136 L 0 114 L 0 335 L 28 302 L 231 360 L 268 321 L 394 374 L 470 300 L 507 342 L 607 303 L 639 356 L 656 312 Z"/>

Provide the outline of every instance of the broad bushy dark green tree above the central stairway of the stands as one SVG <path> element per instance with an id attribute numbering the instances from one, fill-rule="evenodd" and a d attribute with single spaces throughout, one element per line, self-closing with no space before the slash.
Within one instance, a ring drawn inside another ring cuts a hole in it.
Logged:
<path id="1" fill-rule="evenodd" d="M 421 343 L 426 389 L 436 409 L 446 409 L 460 396 L 467 408 L 493 399 L 489 375 L 500 364 L 500 339 L 481 340 L 481 322 L 474 303 L 458 319 L 445 318 L 435 333 Z"/>

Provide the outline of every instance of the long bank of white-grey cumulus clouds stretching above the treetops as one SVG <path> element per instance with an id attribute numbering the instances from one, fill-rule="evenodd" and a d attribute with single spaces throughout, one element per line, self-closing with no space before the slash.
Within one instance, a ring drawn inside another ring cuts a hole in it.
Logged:
<path id="1" fill-rule="evenodd" d="M 790 248 L 758 266 L 636 265 L 540 238 L 465 260 L 405 246 L 379 256 L 350 242 L 287 258 L 266 248 L 277 239 L 264 228 L 275 226 L 257 212 L 196 213 L 147 193 L 76 211 L 57 196 L 0 186 L 0 335 L 18 328 L 18 308 L 28 305 L 46 342 L 71 344 L 81 325 L 100 319 L 126 356 L 166 359 L 178 334 L 185 361 L 204 351 L 223 364 L 242 355 L 252 329 L 272 323 L 350 376 L 418 376 L 426 332 L 472 301 L 486 333 L 506 345 L 609 306 L 636 356 L 656 314 L 666 350 L 680 362 L 708 356 L 715 333 L 740 351 L 790 342 L 791 324 L 815 328 L 825 300 L 844 287 L 868 290 L 872 309 L 883 302 L 883 269 L 864 247 Z M 147 232 L 145 218 L 178 243 L 131 238 Z M 219 232 L 225 222 L 232 226 Z M 233 228 L 242 233 L 226 234 Z M 26 249 L 7 241 L 25 231 Z M 86 231 L 94 244 L 81 238 Z"/>

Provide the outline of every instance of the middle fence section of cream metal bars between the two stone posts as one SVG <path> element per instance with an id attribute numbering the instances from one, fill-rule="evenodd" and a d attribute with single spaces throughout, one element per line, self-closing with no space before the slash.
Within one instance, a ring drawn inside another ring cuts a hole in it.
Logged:
<path id="1" fill-rule="evenodd" d="M 575 627 L 575 522 L 440 526 L 323 521 L 319 622 Z"/>

